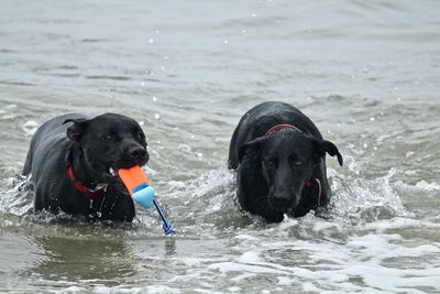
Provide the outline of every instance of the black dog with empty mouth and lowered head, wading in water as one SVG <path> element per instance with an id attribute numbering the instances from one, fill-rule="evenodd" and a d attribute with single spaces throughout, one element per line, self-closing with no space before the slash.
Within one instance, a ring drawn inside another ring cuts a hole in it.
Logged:
<path id="1" fill-rule="evenodd" d="M 229 149 L 242 209 L 278 222 L 284 214 L 301 217 L 324 208 L 331 197 L 326 153 L 342 166 L 338 148 L 297 108 L 271 101 L 249 110 Z"/>

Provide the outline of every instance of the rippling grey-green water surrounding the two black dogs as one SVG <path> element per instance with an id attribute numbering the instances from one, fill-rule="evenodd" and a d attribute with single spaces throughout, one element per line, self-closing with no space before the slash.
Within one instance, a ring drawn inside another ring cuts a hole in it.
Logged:
<path id="1" fill-rule="evenodd" d="M 0 3 L 0 292 L 439 293 L 438 1 Z M 300 108 L 328 160 L 329 219 L 245 216 L 227 170 L 240 117 Z M 34 217 L 31 135 L 65 112 L 142 123 L 178 231 Z"/>

